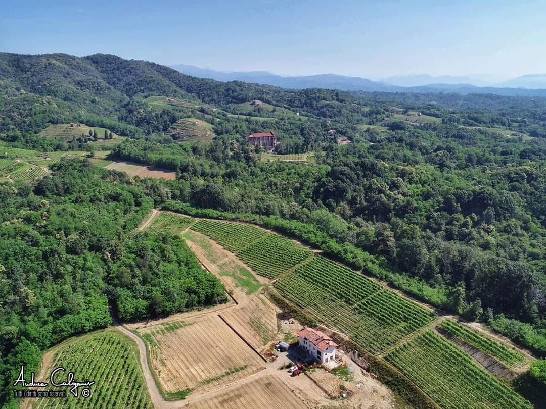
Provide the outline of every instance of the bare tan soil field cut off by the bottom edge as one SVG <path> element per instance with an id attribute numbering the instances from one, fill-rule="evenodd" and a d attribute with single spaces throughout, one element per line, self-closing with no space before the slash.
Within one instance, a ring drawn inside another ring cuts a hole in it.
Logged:
<path id="1" fill-rule="evenodd" d="M 225 394 L 194 402 L 195 409 L 304 409 L 306 406 L 277 376 L 268 375 Z"/>

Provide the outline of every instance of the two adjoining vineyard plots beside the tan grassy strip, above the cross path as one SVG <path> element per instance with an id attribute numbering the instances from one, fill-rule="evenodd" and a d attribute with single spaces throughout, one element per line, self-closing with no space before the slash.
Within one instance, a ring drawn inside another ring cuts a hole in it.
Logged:
<path id="1" fill-rule="evenodd" d="M 266 278 L 276 278 L 313 252 L 286 237 L 257 227 L 212 220 L 199 220 L 193 230 L 205 234 Z"/>

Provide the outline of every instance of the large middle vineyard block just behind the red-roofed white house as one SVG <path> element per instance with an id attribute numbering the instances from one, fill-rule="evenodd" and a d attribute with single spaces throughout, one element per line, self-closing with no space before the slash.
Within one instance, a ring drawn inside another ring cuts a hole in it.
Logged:
<path id="1" fill-rule="evenodd" d="M 419 305 L 322 256 L 281 276 L 274 286 L 319 321 L 375 353 L 432 320 Z"/>

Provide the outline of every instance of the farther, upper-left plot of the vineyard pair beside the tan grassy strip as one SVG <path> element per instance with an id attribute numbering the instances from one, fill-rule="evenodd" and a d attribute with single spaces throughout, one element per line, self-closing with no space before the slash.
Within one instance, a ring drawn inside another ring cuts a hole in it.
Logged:
<path id="1" fill-rule="evenodd" d="M 268 234 L 257 227 L 214 220 L 199 220 L 192 226 L 192 230 L 205 234 L 233 252 L 241 250 L 247 244 Z"/>

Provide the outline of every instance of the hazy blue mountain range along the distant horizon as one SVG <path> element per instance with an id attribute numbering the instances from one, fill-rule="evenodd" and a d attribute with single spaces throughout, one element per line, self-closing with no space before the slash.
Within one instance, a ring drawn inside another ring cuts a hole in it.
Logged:
<path id="1" fill-rule="evenodd" d="M 372 81 L 361 77 L 337 74 L 281 76 L 268 71 L 223 72 L 185 64 L 171 65 L 171 68 L 183 74 L 217 81 L 245 81 L 283 88 L 330 88 L 370 92 L 455 92 L 459 94 L 546 97 L 546 74 L 525 75 L 506 82 L 489 84 L 465 76 L 433 77 L 426 74 L 395 76 L 382 81 Z"/>

